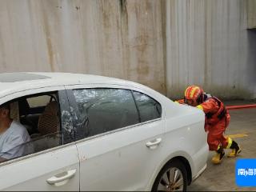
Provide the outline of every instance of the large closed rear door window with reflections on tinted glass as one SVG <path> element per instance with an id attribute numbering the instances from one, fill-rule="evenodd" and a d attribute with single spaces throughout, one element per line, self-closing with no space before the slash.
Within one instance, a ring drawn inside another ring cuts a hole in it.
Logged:
<path id="1" fill-rule="evenodd" d="M 139 122 L 138 110 L 130 90 L 74 90 L 77 105 L 77 139 L 106 133 Z"/>

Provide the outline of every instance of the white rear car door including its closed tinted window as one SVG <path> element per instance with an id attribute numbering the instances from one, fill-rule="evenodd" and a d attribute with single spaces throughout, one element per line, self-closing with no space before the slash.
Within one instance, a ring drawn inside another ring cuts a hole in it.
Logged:
<path id="1" fill-rule="evenodd" d="M 159 161 L 161 112 L 142 122 L 131 90 L 68 88 L 77 118 L 80 189 L 145 190 Z"/>

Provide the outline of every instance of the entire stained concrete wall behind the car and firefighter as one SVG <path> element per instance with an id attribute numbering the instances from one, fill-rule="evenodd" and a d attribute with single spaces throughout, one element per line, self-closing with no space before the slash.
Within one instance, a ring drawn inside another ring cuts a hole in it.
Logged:
<path id="1" fill-rule="evenodd" d="M 1 0 L 0 71 L 101 74 L 172 98 L 190 84 L 253 98 L 255 2 Z"/>

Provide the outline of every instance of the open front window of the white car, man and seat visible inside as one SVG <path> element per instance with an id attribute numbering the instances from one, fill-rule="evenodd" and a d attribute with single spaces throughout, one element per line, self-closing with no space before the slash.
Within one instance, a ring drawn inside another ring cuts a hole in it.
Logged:
<path id="1" fill-rule="evenodd" d="M 0 162 L 74 142 L 65 90 L 16 98 L 0 106 L 0 116 Z"/>

